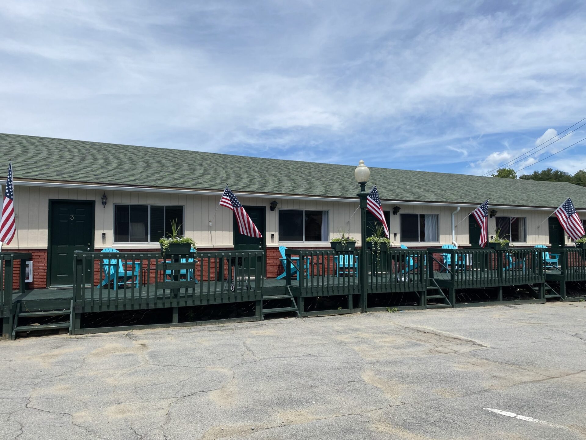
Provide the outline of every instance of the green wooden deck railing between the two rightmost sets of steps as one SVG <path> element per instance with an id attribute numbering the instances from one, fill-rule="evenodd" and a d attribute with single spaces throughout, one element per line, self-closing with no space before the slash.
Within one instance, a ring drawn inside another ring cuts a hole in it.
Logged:
<path id="1" fill-rule="evenodd" d="M 440 287 L 482 289 L 545 282 L 542 252 L 535 248 L 429 248 L 428 276 Z"/>

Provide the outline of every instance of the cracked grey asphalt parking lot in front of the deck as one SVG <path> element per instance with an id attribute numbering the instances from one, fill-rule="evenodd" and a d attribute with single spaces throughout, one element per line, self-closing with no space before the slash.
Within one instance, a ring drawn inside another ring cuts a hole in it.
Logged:
<path id="1" fill-rule="evenodd" d="M 0 439 L 583 439 L 585 371 L 584 303 L 2 340 Z"/>

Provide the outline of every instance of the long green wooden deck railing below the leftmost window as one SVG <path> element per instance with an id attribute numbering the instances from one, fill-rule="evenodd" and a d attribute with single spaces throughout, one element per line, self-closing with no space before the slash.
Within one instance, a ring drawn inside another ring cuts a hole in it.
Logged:
<path id="1" fill-rule="evenodd" d="M 263 251 L 75 252 L 74 264 L 74 313 L 262 299 Z"/>

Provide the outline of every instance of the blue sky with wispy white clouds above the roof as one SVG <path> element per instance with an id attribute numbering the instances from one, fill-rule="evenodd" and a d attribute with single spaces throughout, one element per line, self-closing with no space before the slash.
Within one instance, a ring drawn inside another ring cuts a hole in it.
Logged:
<path id="1" fill-rule="evenodd" d="M 584 48 L 582 1 L 6 0 L 0 132 L 482 174 L 586 117 Z"/>

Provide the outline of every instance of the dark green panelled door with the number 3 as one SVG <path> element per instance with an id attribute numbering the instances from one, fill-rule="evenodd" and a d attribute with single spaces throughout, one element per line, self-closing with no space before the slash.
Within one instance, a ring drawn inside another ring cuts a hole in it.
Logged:
<path id="1" fill-rule="evenodd" d="M 54 200 L 49 218 L 49 285 L 73 285 L 73 252 L 93 251 L 94 202 Z M 93 267 L 87 265 L 90 282 Z"/>

